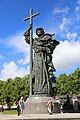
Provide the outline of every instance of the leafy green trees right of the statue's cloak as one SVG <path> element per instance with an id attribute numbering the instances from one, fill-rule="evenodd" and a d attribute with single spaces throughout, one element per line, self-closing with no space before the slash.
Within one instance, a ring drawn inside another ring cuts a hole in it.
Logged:
<path id="1" fill-rule="evenodd" d="M 57 78 L 57 93 L 58 95 L 77 95 L 80 94 L 80 69 L 78 68 L 73 73 L 66 75 L 61 74 Z"/>

